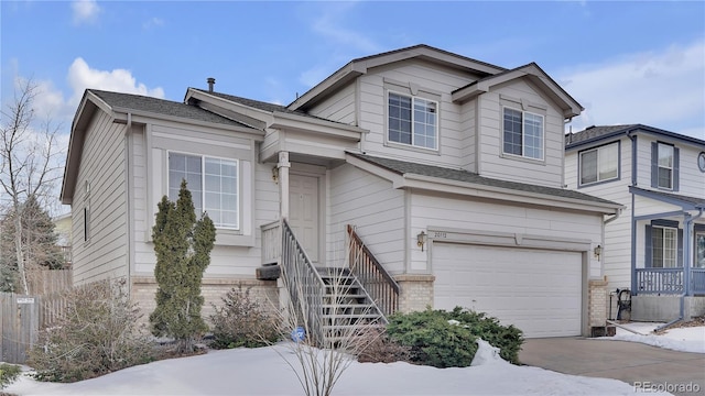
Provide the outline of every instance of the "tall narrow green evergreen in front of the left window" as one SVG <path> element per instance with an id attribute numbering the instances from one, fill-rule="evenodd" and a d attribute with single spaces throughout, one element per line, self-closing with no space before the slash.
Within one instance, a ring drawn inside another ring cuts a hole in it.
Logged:
<path id="1" fill-rule="evenodd" d="M 196 213 L 186 180 L 182 180 L 176 202 L 164 196 L 152 228 L 156 253 L 156 308 L 150 315 L 152 334 L 171 337 L 181 353 L 193 351 L 194 339 L 207 330 L 200 317 L 203 273 L 210 264 L 216 228 L 206 213 Z"/>

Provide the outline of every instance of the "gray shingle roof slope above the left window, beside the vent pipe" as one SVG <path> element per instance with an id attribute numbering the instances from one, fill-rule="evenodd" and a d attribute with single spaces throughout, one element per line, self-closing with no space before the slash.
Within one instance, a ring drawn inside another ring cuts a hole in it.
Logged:
<path id="1" fill-rule="evenodd" d="M 186 118 L 196 121 L 250 128 L 235 120 L 230 120 L 216 113 L 212 113 L 208 110 L 204 110 L 202 108 L 182 102 L 145 97 L 141 95 L 110 92 L 97 89 L 89 89 L 88 91 L 95 94 L 98 98 L 100 98 L 112 108 L 121 108 L 133 111 L 149 111 L 158 114 Z"/>

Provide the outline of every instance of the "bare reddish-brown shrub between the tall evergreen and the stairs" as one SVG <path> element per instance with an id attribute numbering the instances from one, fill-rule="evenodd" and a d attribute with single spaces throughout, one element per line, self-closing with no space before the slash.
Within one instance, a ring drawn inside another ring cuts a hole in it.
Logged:
<path id="1" fill-rule="evenodd" d="M 260 304 L 250 296 L 250 289 L 241 286 L 232 288 L 223 298 L 223 307 L 213 306 L 215 349 L 265 346 L 280 339 L 272 318 L 264 312 Z"/>

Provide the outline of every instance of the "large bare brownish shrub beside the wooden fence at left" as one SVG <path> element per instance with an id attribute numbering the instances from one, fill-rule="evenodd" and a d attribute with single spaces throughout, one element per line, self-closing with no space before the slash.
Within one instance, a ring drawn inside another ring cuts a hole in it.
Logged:
<path id="1" fill-rule="evenodd" d="M 28 364 L 39 381 L 75 382 L 152 360 L 151 343 L 137 323 L 141 314 L 124 282 L 72 289 L 62 318 L 40 331 Z"/>

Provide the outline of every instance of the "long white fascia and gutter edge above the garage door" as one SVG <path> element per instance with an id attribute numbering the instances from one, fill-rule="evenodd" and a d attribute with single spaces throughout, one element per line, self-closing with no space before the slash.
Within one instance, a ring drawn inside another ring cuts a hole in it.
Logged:
<path id="1" fill-rule="evenodd" d="M 531 191 L 522 191 L 510 188 L 487 186 L 474 183 L 442 179 L 432 176 L 405 174 L 403 180 L 395 184 L 395 188 L 419 188 L 441 193 L 451 193 L 479 198 L 494 198 L 507 201 L 532 204 L 554 208 L 564 208 L 582 211 L 600 212 L 605 215 L 617 213 L 622 206 L 600 202 L 588 202 L 579 199 L 556 197 Z"/>

